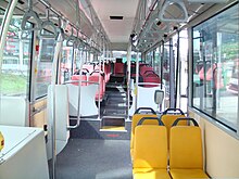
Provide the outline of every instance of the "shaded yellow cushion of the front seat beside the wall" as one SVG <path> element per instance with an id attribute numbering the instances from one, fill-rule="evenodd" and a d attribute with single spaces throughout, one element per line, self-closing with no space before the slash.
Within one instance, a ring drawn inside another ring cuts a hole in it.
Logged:
<path id="1" fill-rule="evenodd" d="M 202 169 L 171 169 L 173 179 L 210 178 Z"/>

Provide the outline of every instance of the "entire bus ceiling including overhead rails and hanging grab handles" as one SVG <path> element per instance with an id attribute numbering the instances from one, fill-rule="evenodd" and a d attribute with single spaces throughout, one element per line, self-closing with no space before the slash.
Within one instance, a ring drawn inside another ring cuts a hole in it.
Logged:
<path id="1" fill-rule="evenodd" d="M 95 41 L 111 50 L 127 50 L 134 35 L 134 47 L 147 51 L 185 27 L 216 3 L 231 0 L 20 0 L 17 9 L 33 10 L 40 18 L 58 24 L 59 17 L 67 36 Z M 29 4 L 33 5 L 29 9 Z M 49 11 L 46 11 L 46 8 Z M 48 12 L 48 13 L 46 13 Z M 34 16 L 36 16 L 36 14 Z M 48 14 L 48 15 L 47 15 Z M 32 14 L 33 15 L 33 14 Z M 122 16 L 121 20 L 110 16 Z M 77 30 L 72 30 L 75 28 Z M 134 49 L 134 48 L 133 48 Z"/>

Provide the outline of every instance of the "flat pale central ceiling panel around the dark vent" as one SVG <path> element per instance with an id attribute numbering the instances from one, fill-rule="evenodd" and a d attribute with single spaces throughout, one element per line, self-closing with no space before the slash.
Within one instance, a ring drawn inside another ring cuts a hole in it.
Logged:
<path id="1" fill-rule="evenodd" d="M 91 0 L 111 42 L 128 42 L 139 0 Z M 110 20 L 110 16 L 124 16 Z"/>

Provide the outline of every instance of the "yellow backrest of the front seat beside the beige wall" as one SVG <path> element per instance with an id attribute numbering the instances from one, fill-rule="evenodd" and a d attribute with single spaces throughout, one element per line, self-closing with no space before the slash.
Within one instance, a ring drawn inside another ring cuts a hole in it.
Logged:
<path id="1" fill-rule="evenodd" d="M 169 139 L 171 169 L 203 169 L 199 126 L 173 126 Z"/>

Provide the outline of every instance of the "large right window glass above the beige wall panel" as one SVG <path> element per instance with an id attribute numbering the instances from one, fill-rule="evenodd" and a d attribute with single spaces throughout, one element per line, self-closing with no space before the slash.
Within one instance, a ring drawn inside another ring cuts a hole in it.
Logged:
<path id="1" fill-rule="evenodd" d="M 239 5 L 193 27 L 192 105 L 237 128 Z"/>

